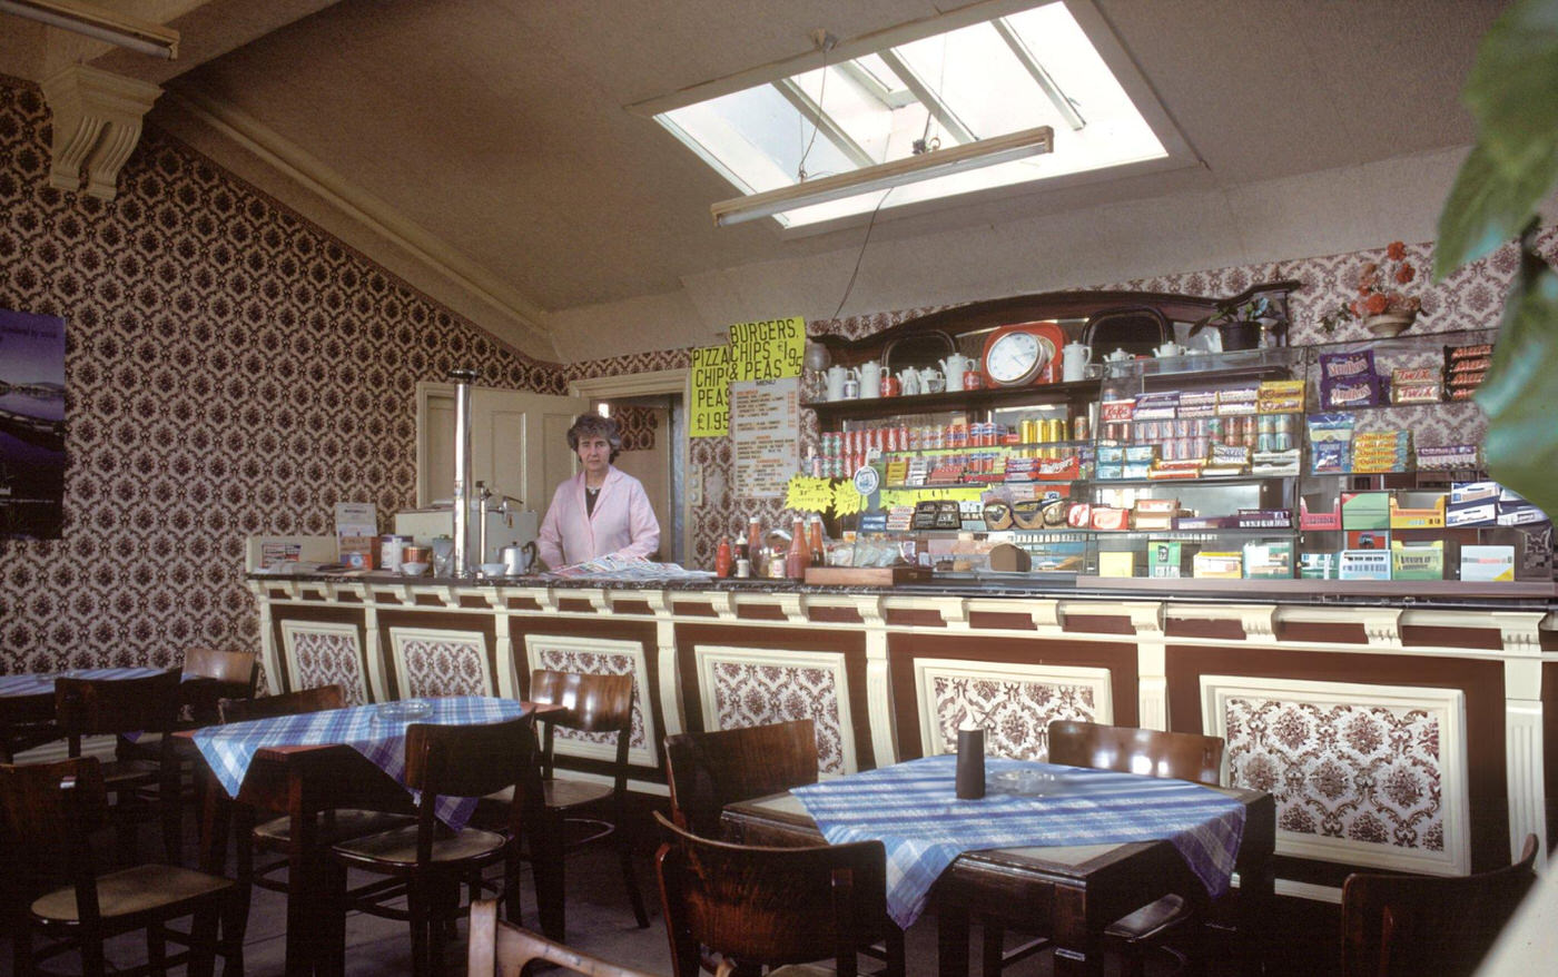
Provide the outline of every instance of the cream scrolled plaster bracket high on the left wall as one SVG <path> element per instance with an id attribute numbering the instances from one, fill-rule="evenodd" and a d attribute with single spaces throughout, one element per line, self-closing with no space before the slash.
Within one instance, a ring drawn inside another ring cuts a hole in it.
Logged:
<path id="1" fill-rule="evenodd" d="M 109 72 L 73 64 L 44 81 L 55 115 L 48 185 L 114 199 L 118 170 L 140 142 L 140 120 L 162 89 Z"/>

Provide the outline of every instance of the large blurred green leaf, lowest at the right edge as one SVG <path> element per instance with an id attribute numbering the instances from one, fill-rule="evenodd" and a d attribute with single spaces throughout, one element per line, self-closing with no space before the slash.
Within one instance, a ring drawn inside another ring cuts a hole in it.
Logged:
<path id="1" fill-rule="evenodd" d="M 1488 413 L 1488 474 L 1558 514 L 1558 273 L 1530 249 L 1477 404 Z"/>

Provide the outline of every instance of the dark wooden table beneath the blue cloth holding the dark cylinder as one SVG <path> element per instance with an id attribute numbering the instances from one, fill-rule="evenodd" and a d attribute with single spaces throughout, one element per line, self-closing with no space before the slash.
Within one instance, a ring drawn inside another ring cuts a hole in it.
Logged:
<path id="1" fill-rule="evenodd" d="M 1256 790 L 1223 788 L 1245 802 L 1239 848 L 1239 935 L 1246 969 L 1260 960 L 1270 926 L 1276 804 Z M 745 845 L 816 845 L 823 840 L 801 801 L 788 793 L 731 804 L 721 826 Z M 969 921 L 996 919 L 1055 941 L 1055 974 L 1103 972 L 1103 929 L 1168 893 L 1206 901 L 1206 888 L 1168 841 L 1011 848 L 960 855 L 932 890 L 938 918 L 939 977 L 966 977 Z"/>

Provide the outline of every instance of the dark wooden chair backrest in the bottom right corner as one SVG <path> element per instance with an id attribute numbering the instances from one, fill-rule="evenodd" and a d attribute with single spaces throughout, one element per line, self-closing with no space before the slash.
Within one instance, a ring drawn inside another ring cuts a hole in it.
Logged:
<path id="1" fill-rule="evenodd" d="M 1536 882 L 1536 835 L 1508 868 L 1457 877 L 1354 873 L 1341 885 L 1343 977 L 1471 974 Z"/>

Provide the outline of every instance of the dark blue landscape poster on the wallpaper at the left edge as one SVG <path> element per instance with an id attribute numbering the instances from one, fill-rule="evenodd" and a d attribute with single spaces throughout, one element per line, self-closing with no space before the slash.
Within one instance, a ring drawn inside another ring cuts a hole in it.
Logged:
<path id="1" fill-rule="evenodd" d="M 0 309 L 0 538 L 59 539 L 65 321 Z"/>

